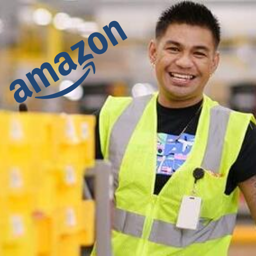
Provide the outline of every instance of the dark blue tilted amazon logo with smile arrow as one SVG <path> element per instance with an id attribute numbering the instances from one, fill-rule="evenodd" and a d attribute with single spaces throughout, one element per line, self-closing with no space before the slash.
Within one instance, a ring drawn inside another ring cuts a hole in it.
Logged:
<path id="1" fill-rule="evenodd" d="M 111 21 L 109 23 L 109 25 L 105 25 L 103 27 L 106 35 L 108 36 L 109 40 L 111 41 L 112 45 L 116 45 L 118 44 L 117 40 L 115 39 L 113 33 L 111 32 L 111 28 L 114 27 L 116 29 L 116 31 L 119 33 L 119 35 L 121 36 L 122 40 L 125 40 L 127 38 L 126 34 L 124 33 L 124 31 L 122 30 L 121 26 L 119 25 L 119 23 L 117 21 Z M 101 44 L 102 44 L 102 48 L 99 49 L 94 41 L 93 38 L 97 37 Z M 90 49 L 96 53 L 96 54 L 102 54 L 107 50 L 108 44 L 107 44 L 107 40 L 104 37 L 103 34 L 99 33 L 99 32 L 94 32 L 92 34 L 89 35 L 88 37 L 88 44 Z M 83 65 L 84 62 L 90 60 L 93 58 L 92 54 L 86 54 L 84 55 L 84 41 L 80 40 L 79 42 L 75 43 L 74 45 L 72 45 L 71 50 L 75 50 L 78 48 L 78 63 L 79 65 Z M 59 64 L 58 66 L 58 71 L 61 75 L 68 75 L 72 70 L 75 70 L 77 67 L 77 64 L 75 64 L 72 60 L 72 58 L 70 57 L 70 55 L 65 52 L 62 51 L 60 53 L 58 53 L 55 57 L 54 57 L 54 63 L 58 63 L 59 59 L 63 57 L 64 60 Z M 68 64 L 68 69 L 64 69 L 64 65 Z M 89 67 L 86 69 L 86 67 Z M 40 68 L 36 67 L 34 68 L 31 72 L 26 73 L 26 77 L 28 78 L 29 82 L 31 83 L 34 91 L 36 93 L 38 93 L 39 91 L 41 91 L 41 88 L 39 87 L 38 83 L 35 81 L 34 79 L 34 75 L 37 74 L 39 76 L 39 78 L 41 79 L 43 85 L 45 87 L 48 87 L 50 85 L 50 82 L 48 81 L 48 79 L 46 78 L 45 74 L 43 73 L 43 70 L 47 69 L 47 71 L 49 72 L 51 78 L 54 80 L 54 82 L 56 82 L 57 80 L 59 80 L 58 75 L 56 74 L 56 72 L 54 71 L 53 67 L 51 66 L 50 63 L 48 62 L 44 62 L 41 64 Z M 92 69 L 93 73 L 95 73 L 95 65 L 93 61 L 89 61 L 86 64 L 84 64 L 83 69 L 86 69 L 85 73 L 77 80 L 75 81 L 72 85 L 70 85 L 69 87 L 58 91 L 56 93 L 53 94 L 49 94 L 49 95 L 44 95 L 44 96 L 37 96 L 35 98 L 56 98 L 56 97 L 60 97 L 63 96 L 67 93 L 69 93 L 70 91 L 74 90 L 78 85 L 80 85 L 82 83 L 82 81 L 87 77 L 88 73 L 90 72 L 90 70 Z M 15 89 L 15 86 L 19 85 L 19 87 L 16 89 L 16 91 L 14 92 L 14 99 L 18 102 L 24 102 L 26 100 L 27 97 L 31 97 L 33 94 L 33 91 L 29 90 L 29 88 L 27 87 L 26 83 L 24 82 L 24 80 L 22 79 L 16 79 L 14 80 L 11 84 L 10 84 L 10 91 Z M 24 92 L 24 96 L 21 97 L 19 95 L 20 91 Z"/>

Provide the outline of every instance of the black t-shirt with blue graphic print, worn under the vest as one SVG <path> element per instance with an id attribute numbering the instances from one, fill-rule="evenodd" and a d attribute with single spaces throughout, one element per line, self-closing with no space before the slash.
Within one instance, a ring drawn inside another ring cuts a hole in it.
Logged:
<path id="1" fill-rule="evenodd" d="M 167 108 L 157 102 L 158 139 L 154 194 L 159 193 L 164 184 L 171 178 L 171 174 L 185 161 L 190 152 L 199 120 L 201 103 L 202 101 L 184 108 Z M 98 113 L 95 113 L 95 157 L 96 159 L 102 159 Z M 189 125 L 182 132 L 188 123 Z M 239 182 L 256 175 L 255 166 L 256 126 L 250 122 L 237 159 L 229 170 L 225 193 L 230 194 Z"/>

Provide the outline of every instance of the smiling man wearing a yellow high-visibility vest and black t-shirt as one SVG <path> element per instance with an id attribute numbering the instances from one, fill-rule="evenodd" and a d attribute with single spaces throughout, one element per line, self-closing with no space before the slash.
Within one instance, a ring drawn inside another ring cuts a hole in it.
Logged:
<path id="1" fill-rule="evenodd" d="M 239 188 L 256 221 L 255 119 L 203 94 L 219 40 L 204 5 L 166 9 L 148 47 L 159 91 L 109 96 L 99 113 L 96 156 L 114 173 L 115 256 L 227 255 Z"/>

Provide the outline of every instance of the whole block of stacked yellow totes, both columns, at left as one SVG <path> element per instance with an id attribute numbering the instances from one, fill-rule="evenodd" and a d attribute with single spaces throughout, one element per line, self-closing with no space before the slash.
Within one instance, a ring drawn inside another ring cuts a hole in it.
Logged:
<path id="1" fill-rule="evenodd" d="M 75 256 L 93 242 L 94 117 L 0 112 L 0 255 Z"/>

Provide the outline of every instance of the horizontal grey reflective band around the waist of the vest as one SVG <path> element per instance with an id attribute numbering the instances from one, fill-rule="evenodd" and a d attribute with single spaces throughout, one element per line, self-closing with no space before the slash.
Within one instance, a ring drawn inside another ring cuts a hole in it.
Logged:
<path id="1" fill-rule="evenodd" d="M 143 215 L 115 208 L 114 219 L 114 230 L 136 237 L 142 236 L 145 219 Z M 227 214 L 211 221 L 201 218 L 196 230 L 180 229 L 175 224 L 154 220 L 148 240 L 174 247 L 205 242 L 232 234 L 235 219 L 236 214 Z"/>

